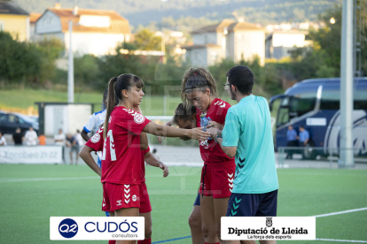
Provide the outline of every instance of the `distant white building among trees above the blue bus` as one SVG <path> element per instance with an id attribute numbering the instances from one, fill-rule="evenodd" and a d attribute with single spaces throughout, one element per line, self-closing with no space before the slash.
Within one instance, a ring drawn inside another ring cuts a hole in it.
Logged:
<path id="1" fill-rule="evenodd" d="M 265 40 L 265 57 L 281 59 L 289 57 L 289 50 L 304 48 L 310 45 L 306 40 L 307 31 L 301 30 L 276 30 L 269 34 Z"/>

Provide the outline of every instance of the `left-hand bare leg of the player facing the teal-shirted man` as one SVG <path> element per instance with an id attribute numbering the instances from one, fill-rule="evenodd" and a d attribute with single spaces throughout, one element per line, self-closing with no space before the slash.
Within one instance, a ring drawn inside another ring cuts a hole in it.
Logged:
<path id="1" fill-rule="evenodd" d="M 218 237 L 215 233 L 215 212 L 213 196 L 200 195 L 200 212 L 202 231 L 204 234 L 205 242 L 218 243 Z"/>

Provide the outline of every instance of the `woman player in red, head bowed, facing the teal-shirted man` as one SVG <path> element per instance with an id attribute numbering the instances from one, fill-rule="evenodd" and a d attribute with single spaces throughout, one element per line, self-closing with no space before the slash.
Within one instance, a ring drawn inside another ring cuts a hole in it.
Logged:
<path id="1" fill-rule="evenodd" d="M 223 128 L 225 116 L 230 104 L 216 98 L 215 80 L 204 68 L 191 68 L 183 75 L 181 98 L 187 107 L 193 105 L 196 110 L 198 127 Z M 220 145 L 211 138 L 200 141 L 199 149 L 204 161 L 199 187 L 202 231 L 205 243 L 219 243 L 221 240 L 221 217 L 226 216 L 228 200 L 233 187 L 236 164 L 228 157 Z M 197 201 L 196 201 L 197 202 Z"/>

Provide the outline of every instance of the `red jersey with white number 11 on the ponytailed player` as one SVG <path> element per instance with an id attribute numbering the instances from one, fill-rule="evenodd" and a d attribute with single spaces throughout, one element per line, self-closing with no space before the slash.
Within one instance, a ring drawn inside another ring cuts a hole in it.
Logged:
<path id="1" fill-rule="evenodd" d="M 141 183 L 144 156 L 140 149 L 140 133 L 149 122 L 137 111 L 123 106 L 113 108 L 102 153 L 102 183 Z"/>

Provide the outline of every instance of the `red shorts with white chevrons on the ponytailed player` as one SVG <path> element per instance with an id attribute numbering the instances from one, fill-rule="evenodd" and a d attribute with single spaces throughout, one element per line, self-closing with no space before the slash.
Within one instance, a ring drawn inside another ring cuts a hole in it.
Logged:
<path id="1" fill-rule="evenodd" d="M 102 185 L 102 211 L 113 212 L 120 209 L 140 208 L 140 185 L 120 185 L 107 182 Z"/>

